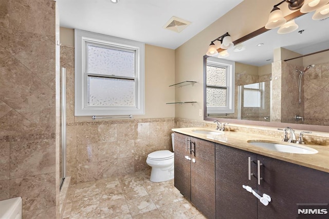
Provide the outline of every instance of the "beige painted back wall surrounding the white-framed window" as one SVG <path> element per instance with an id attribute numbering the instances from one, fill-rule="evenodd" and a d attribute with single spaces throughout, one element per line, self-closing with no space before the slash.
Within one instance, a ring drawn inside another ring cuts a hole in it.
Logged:
<path id="1" fill-rule="evenodd" d="M 61 27 L 62 46 L 74 47 L 74 29 Z M 65 67 L 65 66 L 63 66 Z M 166 103 L 175 101 L 175 51 L 145 45 L 145 114 L 134 118 L 175 117 L 175 106 Z M 92 121 L 90 116 L 75 117 L 75 121 Z"/>

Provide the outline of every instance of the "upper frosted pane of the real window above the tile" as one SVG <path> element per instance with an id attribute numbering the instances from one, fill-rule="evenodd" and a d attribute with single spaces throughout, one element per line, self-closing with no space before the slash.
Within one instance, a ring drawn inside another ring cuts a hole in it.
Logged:
<path id="1" fill-rule="evenodd" d="M 88 73 L 135 76 L 135 53 L 88 45 Z"/>

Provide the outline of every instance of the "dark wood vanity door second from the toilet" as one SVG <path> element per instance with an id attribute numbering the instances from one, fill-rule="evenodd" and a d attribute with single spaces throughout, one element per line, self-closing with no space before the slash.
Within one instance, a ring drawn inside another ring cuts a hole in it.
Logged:
<path id="1" fill-rule="evenodd" d="M 215 143 L 191 137 L 191 202 L 215 218 Z"/>

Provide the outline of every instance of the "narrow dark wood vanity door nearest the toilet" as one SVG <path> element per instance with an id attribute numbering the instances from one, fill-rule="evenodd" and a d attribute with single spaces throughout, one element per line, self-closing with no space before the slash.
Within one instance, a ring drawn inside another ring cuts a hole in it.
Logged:
<path id="1" fill-rule="evenodd" d="M 191 200 L 191 175 L 190 161 L 185 156 L 191 157 L 189 150 L 190 136 L 175 132 L 175 165 L 174 165 L 174 185 L 179 192 L 188 200 Z"/>

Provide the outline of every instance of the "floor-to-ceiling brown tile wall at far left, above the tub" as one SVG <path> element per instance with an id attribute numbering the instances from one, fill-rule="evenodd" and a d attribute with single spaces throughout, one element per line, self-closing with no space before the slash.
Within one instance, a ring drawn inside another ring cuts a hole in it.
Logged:
<path id="1" fill-rule="evenodd" d="M 23 218 L 56 217 L 55 3 L 0 1 L 0 200 Z"/>

